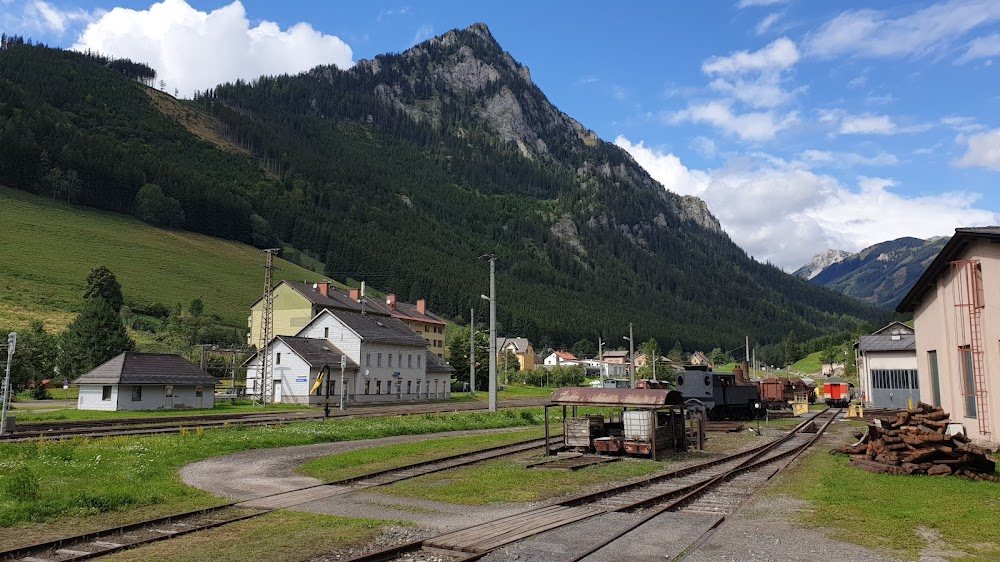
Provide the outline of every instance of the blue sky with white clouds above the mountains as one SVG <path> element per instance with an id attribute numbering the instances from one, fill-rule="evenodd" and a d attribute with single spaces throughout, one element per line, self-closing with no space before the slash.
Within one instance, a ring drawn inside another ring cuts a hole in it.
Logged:
<path id="1" fill-rule="evenodd" d="M 482 21 L 562 111 L 794 269 L 1000 224 L 1000 2 L 876 5 L 0 0 L 0 30 L 145 60 L 190 96 Z"/>

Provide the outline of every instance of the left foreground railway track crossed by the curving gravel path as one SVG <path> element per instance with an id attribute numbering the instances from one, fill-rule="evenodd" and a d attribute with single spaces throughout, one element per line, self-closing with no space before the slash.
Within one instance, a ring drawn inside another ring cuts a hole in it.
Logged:
<path id="1" fill-rule="evenodd" d="M 89 560 L 122 550 L 259 517 L 277 509 L 367 488 L 385 486 L 393 482 L 523 453 L 544 446 L 545 439 L 531 439 L 488 449 L 448 455 L 438 459 L 411 463 L 397 468 L 317 484 L 315 486 L 307 486 L 288 492 L 269 494 L 249 500 L 230 502 L 214 507 L 147 519 L 119 527 L 62 537 L 51 541 L 0 551 L 0 560 L 19 560 L 21 562 Z"/>

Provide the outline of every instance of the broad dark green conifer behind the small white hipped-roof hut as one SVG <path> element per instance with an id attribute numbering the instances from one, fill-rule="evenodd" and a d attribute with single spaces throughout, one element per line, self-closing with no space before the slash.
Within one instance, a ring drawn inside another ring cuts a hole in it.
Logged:
<path id="1" fill-rule="evenodd" d="M 118 311 L 104 299 L 87 299 L 83 312 L 63 332 L 59 372 L 75 377 L 134 349 Z"/>

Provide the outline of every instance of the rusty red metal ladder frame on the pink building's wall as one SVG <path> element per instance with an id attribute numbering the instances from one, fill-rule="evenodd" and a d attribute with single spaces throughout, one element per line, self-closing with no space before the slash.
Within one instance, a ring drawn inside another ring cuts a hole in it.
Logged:
<path id="1" fill-rule="evenodd" d="M 972 398 L 976 404 L 976 420 L 979 433 L 990 433 L 990 412 L 986 400 L 986 368 L 983 364 L 982 314 L 986 306 L 983 298 L 983 270 L 979 260 L 959 260 L 951 262 L 954 274 L 952 291 L 955 301 L 955 343 L 959 346 L 961 370 L 972 369 L 971 382 L 962 377 L 962 395 Z M 964 349 L 962 346 L 965 346 Z M 969 354 L 968 362 L 962 352 Z"/>

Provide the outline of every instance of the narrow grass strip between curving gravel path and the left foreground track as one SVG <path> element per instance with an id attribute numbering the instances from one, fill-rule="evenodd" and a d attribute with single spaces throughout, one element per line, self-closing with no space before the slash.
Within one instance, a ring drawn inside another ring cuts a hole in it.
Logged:
<path id="1" fill-rule="evenodd" d="M 517 441 L 544 437 L 542 428 L 495 435 L 445 437 L 418 443 L 401 443 L 373 447 L 323 457 L 303 464 L 299 471 L 324 481 L 340 480 L 406 464 L 430 461 L 442 457 L 499 447 Z M 557 438 L 558 439 L 558 438 Z"/>

